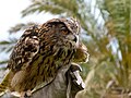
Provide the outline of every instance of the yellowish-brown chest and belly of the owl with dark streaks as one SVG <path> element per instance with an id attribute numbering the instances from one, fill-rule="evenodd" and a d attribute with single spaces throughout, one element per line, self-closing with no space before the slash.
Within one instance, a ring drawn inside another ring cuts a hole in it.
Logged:
<path id="1" fill-rule="evenodd" d="M 28 85 L 25 88 L 22 86 L 22 88 L 28 89 L 50 83 L 56 77 L 59 68 L 71 63 L 73 54 L 74 50 L 61 48 L 56 52 L 37 53 L 26 69 L 26 76 L 22 82 L 23 85 L 25 83 Z"/>

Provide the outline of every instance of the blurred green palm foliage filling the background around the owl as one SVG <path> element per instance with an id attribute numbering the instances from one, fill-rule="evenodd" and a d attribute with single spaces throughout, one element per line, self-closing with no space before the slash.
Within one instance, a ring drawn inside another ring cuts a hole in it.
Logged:
<path id="1" fill-rule="evenodd" d="M 82 39 L 91 54 L 81 72 L 86 88 L 78 98 L 130 98 L 131 96 L 131 1 L 130 0 L 31 0 L 22 11 L 25 17 L 49 12 L 75 17 L 82 26 Z M 34 23 L 17 24 L 9 33 Z M 16 38 L 0 41 L 0 52 L 9 53 Z M 0 61 L 7 63 L 8 60 Z M 1 69 L 4 69 L 1 68 Z"/>

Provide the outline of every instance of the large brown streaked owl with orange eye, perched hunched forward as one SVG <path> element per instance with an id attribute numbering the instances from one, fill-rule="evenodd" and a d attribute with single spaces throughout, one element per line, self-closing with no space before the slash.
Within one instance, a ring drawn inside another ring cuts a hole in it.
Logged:
<path id="1" fill-rule="evenodd" d="M 88 54 L 79 35 L 80 24 L 72 19 L 52 19 L 26 29 L 10 56 L 0 91 L 25 96 L 52 82 L 62 65 L 86 61 Z"/>

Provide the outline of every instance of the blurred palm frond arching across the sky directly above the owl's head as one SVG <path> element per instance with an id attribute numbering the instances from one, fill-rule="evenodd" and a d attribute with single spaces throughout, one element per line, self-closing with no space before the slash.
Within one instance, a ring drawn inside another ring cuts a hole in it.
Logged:
<path id="1" fill-rule="evenodd" d="M 69 4 L 70 3 L 70 4 Z M 26 16 L 35 12 L 50 12 L 52 14 L 70 13 L 71 11 L 78 11 L 78 3 L 75 0 L 35 0 L 28 8 L 22 11 L 23 16 Z M 74 12 L 73 12 L 74 13 Z"/>

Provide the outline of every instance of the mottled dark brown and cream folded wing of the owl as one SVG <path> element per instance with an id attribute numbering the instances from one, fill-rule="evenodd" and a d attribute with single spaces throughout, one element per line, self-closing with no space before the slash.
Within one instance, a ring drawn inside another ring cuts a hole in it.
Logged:
<path id="1" fill-rule="evenodd" d="M 24 32 L 10 56 L 9 69 L 16 72 L 26 69 L 39 49 L 38 32 L 37 26 Z"/>

